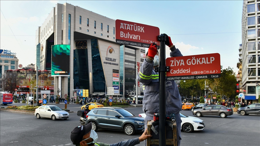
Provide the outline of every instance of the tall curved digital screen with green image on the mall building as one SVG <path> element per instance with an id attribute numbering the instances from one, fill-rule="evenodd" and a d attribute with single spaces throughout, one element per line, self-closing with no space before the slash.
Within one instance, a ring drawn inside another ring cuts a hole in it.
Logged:
<path id="1" fill-rule="evenodd" d="M 70 76 L 70 45 L 52 45 L 52 76 Z"/>

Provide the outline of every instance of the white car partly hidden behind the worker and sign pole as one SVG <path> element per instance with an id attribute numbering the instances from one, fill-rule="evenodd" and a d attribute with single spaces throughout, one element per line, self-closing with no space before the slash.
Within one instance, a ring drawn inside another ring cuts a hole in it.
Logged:
<path id="1" fill-rule="evenodd" d="M 140 117 L 145 118 L 145 113 L 140 113 Z M 205 128 L 205 123 L 203 120 L 193 117 L 193 116 L 185 116 L 180 113 L 180 119 L 181 119 L 181 129 L 183 129 L 184 132 L 193 132 L 203 130 Z"/>

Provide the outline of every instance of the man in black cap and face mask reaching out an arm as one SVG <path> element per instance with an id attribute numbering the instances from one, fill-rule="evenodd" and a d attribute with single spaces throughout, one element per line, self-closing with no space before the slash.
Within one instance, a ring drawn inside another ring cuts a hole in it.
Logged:
<path id="1" fill-rule="evenodd" d="M 147 129 L 139 138 L 130 139 L 127 141 L 121 141 L 116 144 L 104 144 L 102 142 L 97 142 L 98 135 L 92 130 L 92 123 L 88 123 L 85 126 L 77 126 L 70 133 L 70 139 L 76 146 L 132 146 L 139 144 L 141 141 L 151 137 L 152 135 L 147 135 Z"/>

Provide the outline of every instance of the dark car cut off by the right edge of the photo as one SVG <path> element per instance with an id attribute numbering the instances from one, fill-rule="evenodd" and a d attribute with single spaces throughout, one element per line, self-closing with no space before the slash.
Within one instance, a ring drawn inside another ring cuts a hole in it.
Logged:
<path id="1" fill-rule="evenodd" d="M 250 104 L 246 107 L 240 107 L 237 109 L 237 113 L 241 115 L 249 115 L 249 114 L 260 114 L 260 103 Z"/>

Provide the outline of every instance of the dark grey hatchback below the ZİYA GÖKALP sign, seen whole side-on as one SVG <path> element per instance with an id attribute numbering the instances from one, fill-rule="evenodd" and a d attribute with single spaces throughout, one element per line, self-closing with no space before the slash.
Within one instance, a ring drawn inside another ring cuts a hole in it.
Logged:
<path id="1" fill-rule="evenodd" d="M 208 105 L 202 109 L 193 110 L 192 113 L 196 116 L 221 116 L 221 118 L 225 118 L 233 115 L 233 110 L 223 105 Z"/>

